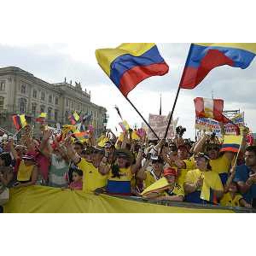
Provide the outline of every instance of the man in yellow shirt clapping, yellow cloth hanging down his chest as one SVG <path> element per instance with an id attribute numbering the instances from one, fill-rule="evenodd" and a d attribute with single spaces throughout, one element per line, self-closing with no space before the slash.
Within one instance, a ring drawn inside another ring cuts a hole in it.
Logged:
<path id="1" fill-rule="evenodd" d="M 217 200 L 223 195 L 223 186 L 219 175 L 210 170 L 210 158 L 207 154 L 199 153 L 195 157 L 195 161 L 197 169 L 190 170 L 186 174 L 185 201 L 198 204 L 217 203 Z"/>

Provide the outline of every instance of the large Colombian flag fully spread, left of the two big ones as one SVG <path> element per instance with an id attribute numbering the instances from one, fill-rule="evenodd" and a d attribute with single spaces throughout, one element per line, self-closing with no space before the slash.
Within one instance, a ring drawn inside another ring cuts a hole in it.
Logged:
<path id="1" fill-rule="evenodd" d="M 144 79 L 169 71 L 154 43 L 124 43 L 114 49 L 97 49 L 95 54 L 102 70 L 125 97 Z"/>

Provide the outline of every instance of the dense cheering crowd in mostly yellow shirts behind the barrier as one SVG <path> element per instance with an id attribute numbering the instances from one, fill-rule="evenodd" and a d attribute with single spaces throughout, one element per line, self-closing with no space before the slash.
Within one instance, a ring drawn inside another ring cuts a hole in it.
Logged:
<path id="1" fill-rule="evenodd" d="M 40 185 L 96 195 L 137 196 L 145 200 L 256 207 L 256 146 L 244 139 L 239 154 L 222 151 L 221 140 L 203 132 L 196 142 L 183 139 L 134 140 L 132 131 L 99 140 L 79 140 L 70 132 L 28 125 L 18 141 L 0 145 L 0 194 L 6 188 Z M 3 207 L 0 207 L 3 212 Z"/>

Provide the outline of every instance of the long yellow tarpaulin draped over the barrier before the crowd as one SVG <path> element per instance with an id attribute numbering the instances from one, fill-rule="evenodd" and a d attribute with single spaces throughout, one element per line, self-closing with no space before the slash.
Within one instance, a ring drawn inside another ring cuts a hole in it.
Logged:
<path id="1" fill-rule="evenodd" d="M 6 213 L 233 213 L 226 209 L 196 209 L 136 202 L 45 186 L 11 189 Z"/>

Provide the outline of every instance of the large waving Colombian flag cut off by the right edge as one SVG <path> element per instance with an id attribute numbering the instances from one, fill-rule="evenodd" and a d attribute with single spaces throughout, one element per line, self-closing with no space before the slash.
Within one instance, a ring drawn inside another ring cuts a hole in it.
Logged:
<path id="1" fill-rule="evenodd" d="M 229 65 L 247 68 L 256 55 L 256 43 L 195 43 L 180 81 L 183 89 L 193 89 L 215 67 Z"/>

